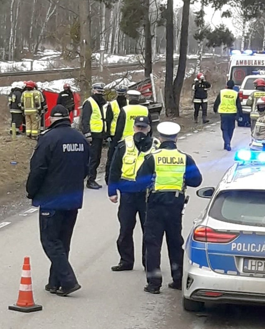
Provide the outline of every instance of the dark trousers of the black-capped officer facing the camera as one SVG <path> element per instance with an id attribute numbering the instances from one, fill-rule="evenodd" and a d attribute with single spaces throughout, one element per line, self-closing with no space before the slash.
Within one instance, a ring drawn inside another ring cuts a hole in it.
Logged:
<path id="1" fill-rule="evenodd" d="M 118 219 L 120 234 L 117 247 L 121 256 L 120 263 L 128 267 L 134 264 L 133 229 L 136 224 L 136 215 L 139 214 L 142 231 L 144 229 L 146 202 L 145 192 L 121 193 Z M 142 241 L 142 265 L 145 267 L 145 244 Z"/>

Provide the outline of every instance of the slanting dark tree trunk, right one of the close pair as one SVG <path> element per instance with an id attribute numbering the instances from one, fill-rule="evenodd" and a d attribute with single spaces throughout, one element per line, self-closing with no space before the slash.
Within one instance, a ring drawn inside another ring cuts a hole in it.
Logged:
<path id="1" fill-rule="evenodd" d="M 183 1 L 182 21 L 181 21 L 181 39 L 180 39 L 180 58 L 177 76 L 174 80 L 174 97 L 176 102 L 175 114 L 180 115 L 180 97 L 183 81 L 185 78 L 187 50 L 188 50 L 188 35 L 189 35 L 189 12 L 190 0 Z"/>

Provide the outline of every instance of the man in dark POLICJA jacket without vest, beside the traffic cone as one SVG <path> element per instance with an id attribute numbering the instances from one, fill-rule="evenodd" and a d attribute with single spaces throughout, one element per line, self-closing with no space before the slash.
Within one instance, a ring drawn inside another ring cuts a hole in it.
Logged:
<path id="1" fill-rule="evenodd" d="M 65 107 L 56 105 L 50 120 L 31 158 L 26 189 L 32 205 L 40 206 L 40 239 L 52 263 L 45 290 L 66 296 L 81 288 L 68 255 L 78 209 L 83 203 L 89 146 L 84 136 L 71 128 Z"/>

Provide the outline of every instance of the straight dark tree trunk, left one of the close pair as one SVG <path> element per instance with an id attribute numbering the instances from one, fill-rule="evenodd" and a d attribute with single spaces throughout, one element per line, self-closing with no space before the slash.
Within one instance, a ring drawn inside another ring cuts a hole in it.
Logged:
<path id="1" fill-rule="evenodd" d="M 165 108 L 166 114 L 174 112 L 175 100 L 173 94 L 174 72 L 174 23 L 173 0 L 167 0 L 166 9 L 166 76 L 165 76 Z"/>

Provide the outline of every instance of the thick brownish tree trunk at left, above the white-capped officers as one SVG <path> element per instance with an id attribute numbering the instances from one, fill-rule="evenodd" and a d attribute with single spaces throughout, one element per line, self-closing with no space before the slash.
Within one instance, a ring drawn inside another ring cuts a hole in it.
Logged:
<path id="1" fill-rule="evenodd" d="M 82 100 L 91 90 L 91 35 L 90 35 L 90 0 L 81 0 L 80 19 L 80 89 Z"/>

